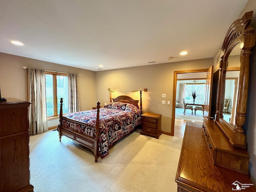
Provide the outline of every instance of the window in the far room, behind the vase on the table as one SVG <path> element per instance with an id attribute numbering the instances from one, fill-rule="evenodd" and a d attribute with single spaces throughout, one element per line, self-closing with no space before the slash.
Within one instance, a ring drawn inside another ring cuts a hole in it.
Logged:
<path id="1" fill-rule="evenodd" d="M 193 102 L 192 93 L 196 93 L 195 101 L 198 103 L 204 103 L 204 92 L 205 92 L 205 84 L 197 83 L 197 84 L 186 84 L 185 86 L 185 100 Z"/>

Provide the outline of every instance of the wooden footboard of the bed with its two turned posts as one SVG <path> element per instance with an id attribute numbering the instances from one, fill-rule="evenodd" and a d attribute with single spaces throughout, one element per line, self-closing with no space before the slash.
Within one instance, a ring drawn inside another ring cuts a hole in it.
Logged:
<path id="1" fill-rule="evenodd" d="M 98 147 L 99 147 L 98 136 L 100 133 L 100 102 L 97 103 L 96 132 L 95 132 L 96 138 L 92 138 L 90 136 L 81 134 L 77 131 L 70 130 L 69 128 L 66 128 L 65 126 L 62 125 L 62 118 L 63 118 L 62 103 L 63 103 L 63 99 L 60 98 L 60 123 L 58 124 L 60 142 L 61 142 L 62 135 L 68 138 L 71 138 L 72 140 L 92 150 L 95 157 L 95 162 L 97 162 L 100 156 L 98 151 Z"/>

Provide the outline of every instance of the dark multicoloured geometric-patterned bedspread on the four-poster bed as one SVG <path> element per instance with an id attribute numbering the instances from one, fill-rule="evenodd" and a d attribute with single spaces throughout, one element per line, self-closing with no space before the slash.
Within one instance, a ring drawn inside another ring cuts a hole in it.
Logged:
<path id="1" fill-rule="evenodd" d="M 96 110 L 81 111 L 63 116 L 62 125 L 95 138 Z M 75 120 L 75 121 L 74 121 Z M 128 103 L 111 102 L 100 108 L 99 152 L 104 158 L 114 142 L 141 124 L 140 110 Z"/>

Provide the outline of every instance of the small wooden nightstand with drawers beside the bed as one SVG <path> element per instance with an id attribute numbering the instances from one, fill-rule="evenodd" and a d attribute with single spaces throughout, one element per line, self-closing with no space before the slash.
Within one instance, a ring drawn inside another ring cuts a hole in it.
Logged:
<path id="1" fill-rule="evenodd" d="M 161 117 L 160 114 L 144 113 L 142 114 L 142 130 L 140 134 L 148 136 L 154 136 L 159 138 L 161 132 Z"/>

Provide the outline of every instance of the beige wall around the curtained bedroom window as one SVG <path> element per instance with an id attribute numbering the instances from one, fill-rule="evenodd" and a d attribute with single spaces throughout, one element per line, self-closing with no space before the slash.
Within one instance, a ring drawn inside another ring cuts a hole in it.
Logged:
<path id="1" fill-rule="evenodd" d="M 22 66 L 81 74 L 78 77 L 80 109 L 90 110 L 96 104 L 95 72 L 0 52 L 0 87 L 2 97 L 28 100 L 27 72 Z M 58 125 L 58 119 L 48 121 L 48 127 L 56 125 Z"/>

